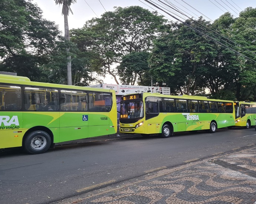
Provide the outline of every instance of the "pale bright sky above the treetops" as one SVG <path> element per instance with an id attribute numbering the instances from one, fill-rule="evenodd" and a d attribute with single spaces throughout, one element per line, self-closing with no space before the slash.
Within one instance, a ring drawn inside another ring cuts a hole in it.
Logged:
<path id="1" fill-rule="evenodd" d="M 152 0 L 154 3 L 157 0 Z M 172 3 L 178 10 L 183 10 L 189 17 L 197 19 L 203 16 L 206 20 L 215 20 L 222 14 L 229 11 L 234 17 L 239 16 L 239 12 L 247 7 L 256 8 L 256 0 L 161 0 L 165 3 Z M 64 17 L 62 16 L 62 6 L 56 5 L 55 0 L 33 0 L 43 11 L 43 17 L 54 21 L 59 25 L 59 29 L 64 33 Z M 106 11 L 114 11 L 114 7 L 141 6 L 150 11 L 157 10 L 167 19 L 174 20 L 163 11 L 151 6 L 144 0 L 77 0 L 71 5 L 73 15 L 69 14 L 69 29 L 83 27 L 87 20 L 94 17 L 101 17 Z M 175 14 L 173 14 L 175 15 Z M 183 17 L 184 18 L 184 17 Z M 174 20 L 176 21 L 176 20 Z M 115 83 L 110 76 L 104 79 L 104 83 Z"/>

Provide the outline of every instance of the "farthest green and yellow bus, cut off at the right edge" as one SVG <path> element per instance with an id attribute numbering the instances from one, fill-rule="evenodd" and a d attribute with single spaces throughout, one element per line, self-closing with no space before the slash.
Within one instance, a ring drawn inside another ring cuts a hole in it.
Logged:
<path id="1" fill-rule="evenodd" d="M 234 108 L 236 113 L 235 126 L 250 128 L 255 125 L 256 102 L 235 101 Z"/>

